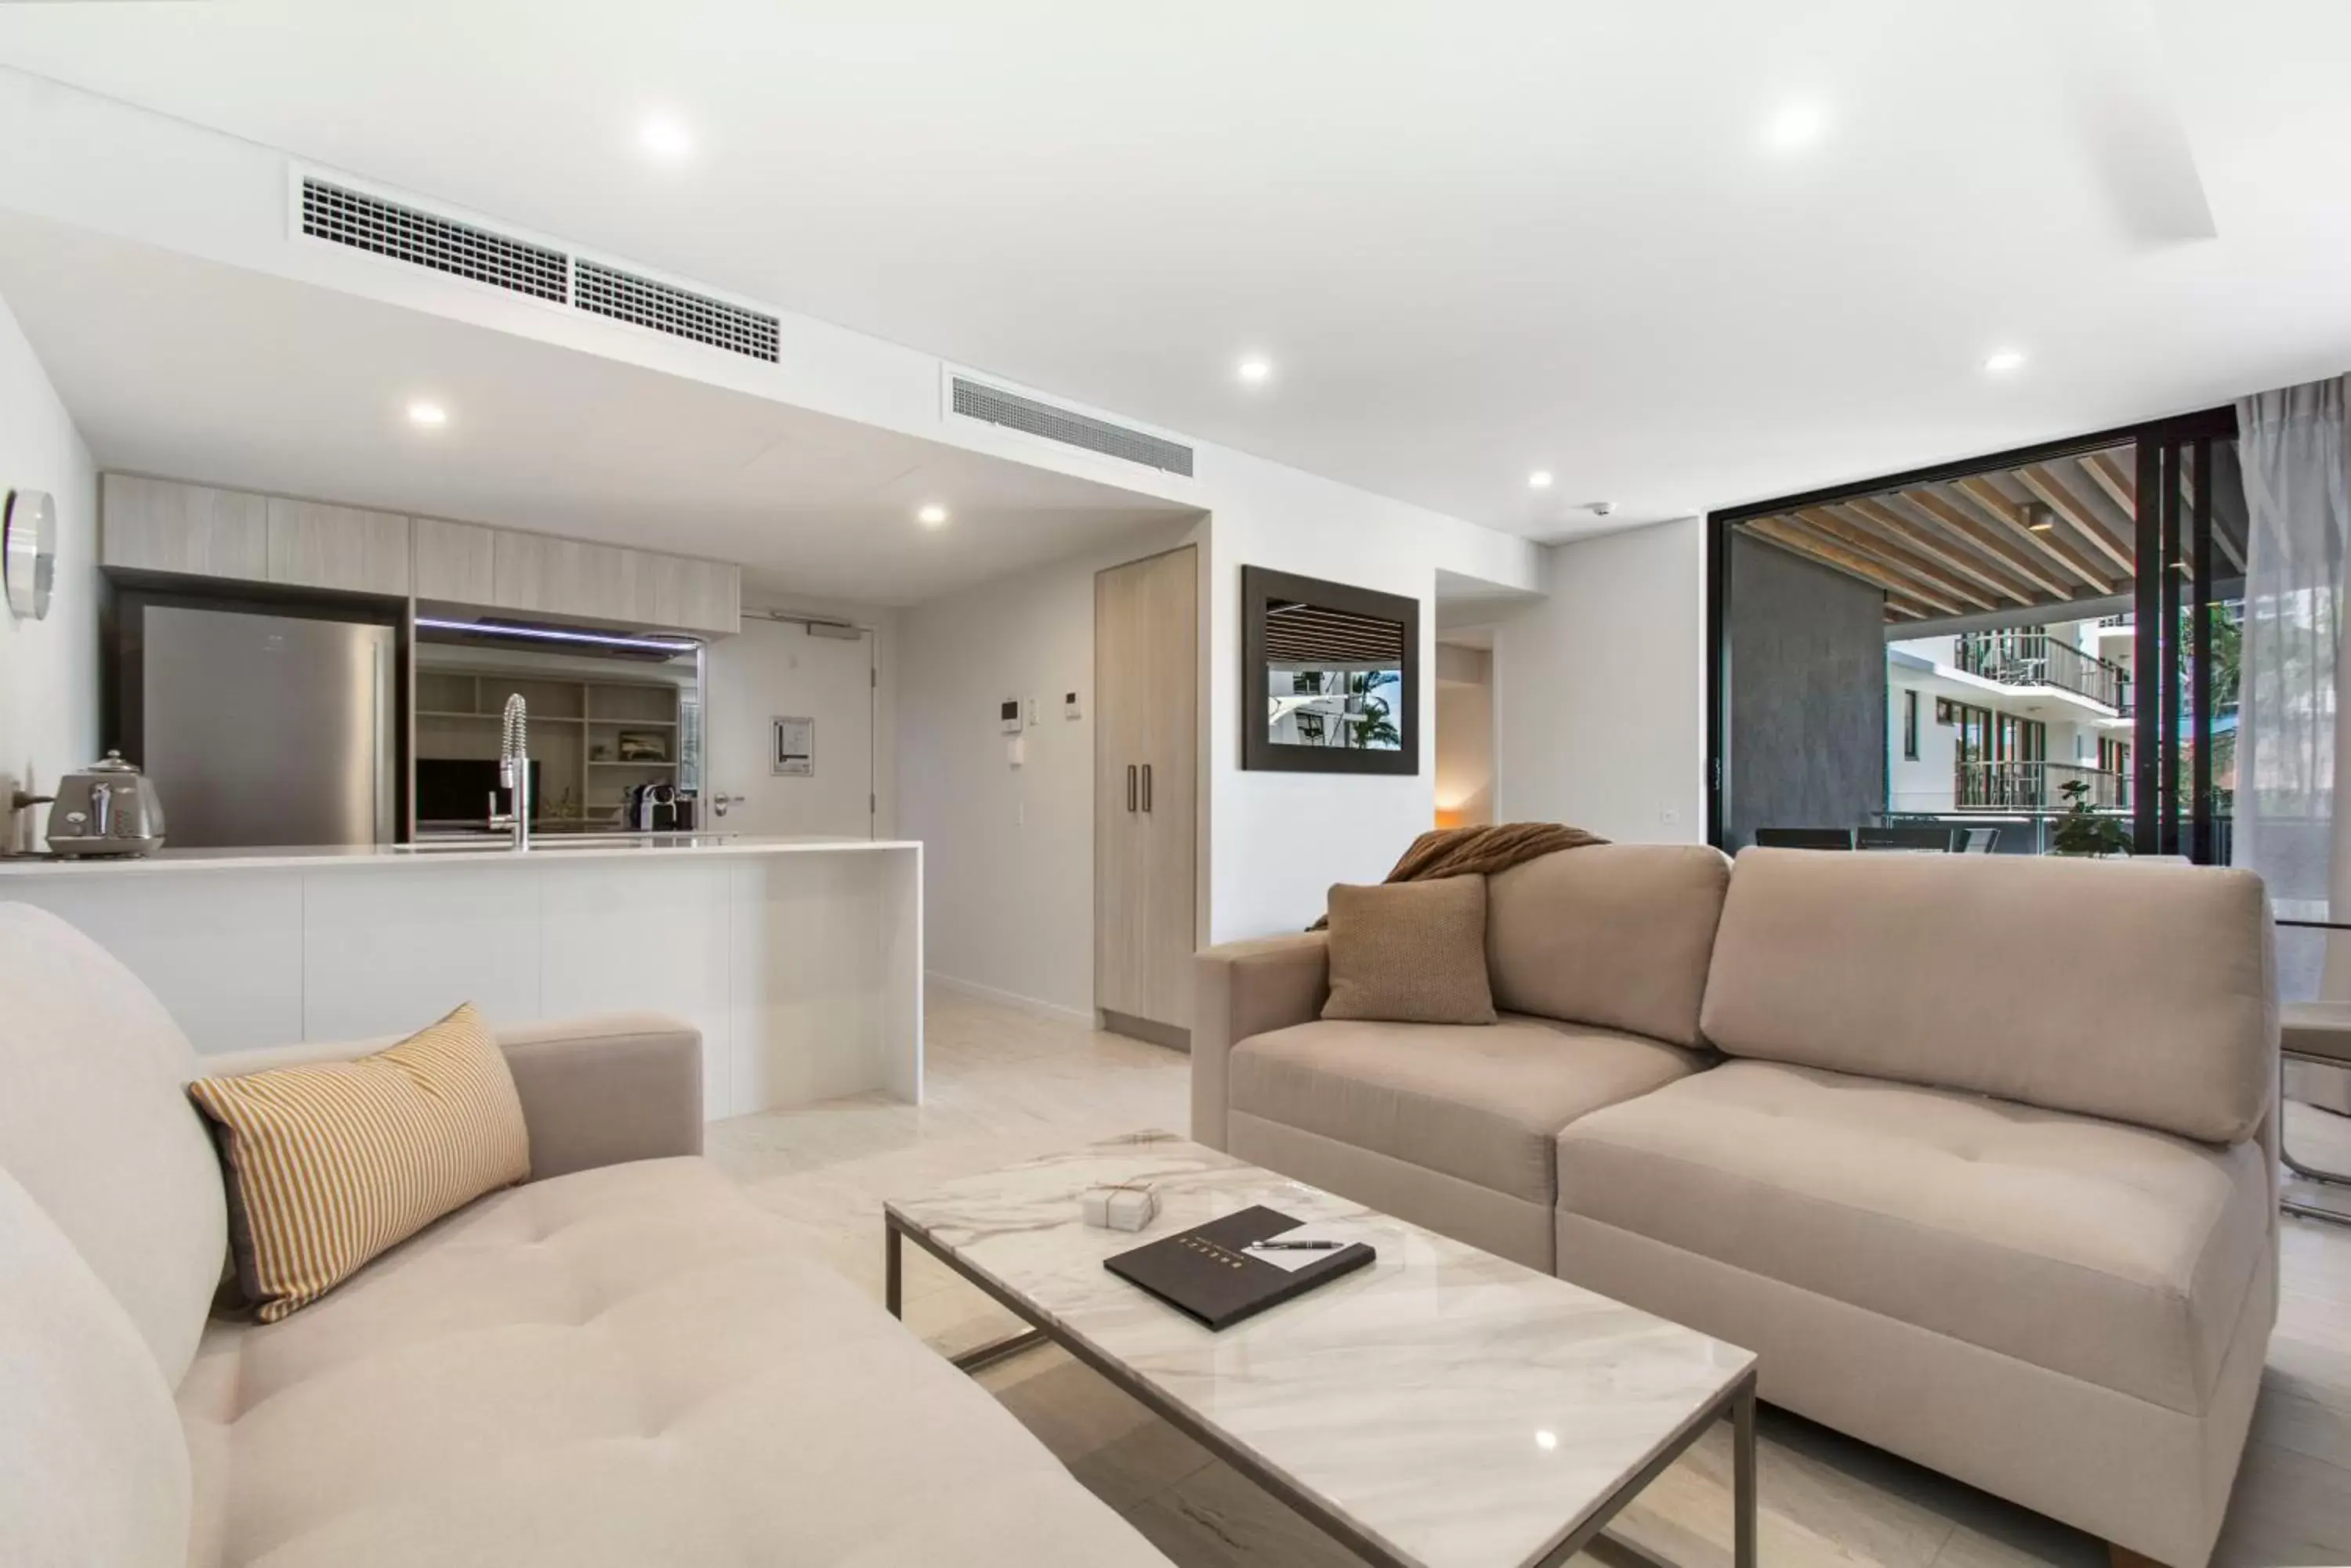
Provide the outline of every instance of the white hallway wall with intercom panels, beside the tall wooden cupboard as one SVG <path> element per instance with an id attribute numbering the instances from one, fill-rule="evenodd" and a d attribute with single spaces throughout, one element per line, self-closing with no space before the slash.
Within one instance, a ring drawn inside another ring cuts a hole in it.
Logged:
<path id="1" fill-rule="evenodd" d="M 924 964 L 1093 1016 L 1093 574 L 1185 543 L 1159 527 L 900 614 L 898 832 L 924 844 Z M 1084 717 L 1063 719 L 1079 693 Z M 1025 759 L 997 705 L 1037 698 Z"/>

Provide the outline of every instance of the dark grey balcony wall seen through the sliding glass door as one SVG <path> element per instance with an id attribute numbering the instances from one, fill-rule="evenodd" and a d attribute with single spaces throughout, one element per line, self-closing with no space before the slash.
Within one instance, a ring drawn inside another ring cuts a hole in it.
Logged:
<path id="1" fill-rule="evenodd" d="M 1723 849 L 1886 809 L 1886 595 L 1730 529 Z"/>

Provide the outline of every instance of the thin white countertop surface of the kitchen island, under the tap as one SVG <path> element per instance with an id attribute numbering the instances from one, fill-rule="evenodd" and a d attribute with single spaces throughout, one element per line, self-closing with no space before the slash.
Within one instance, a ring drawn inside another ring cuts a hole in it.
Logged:
<path id="1" fill-rule="evenodd" d="M 922 849 L 915 839 L 783 839 L 729 837 L 715 832 L 656 832 L 618 842 L 538 839 L 529 853 L 501 844 L 289 844 L 252 849 L 169 849 L 127 858 L 0 858 L 7 877 L 122 877 L 155 872 L 254 872 L 254 870 L 343 870 L 379 865 L 545 865 L 564 860 L 649 860 L 675 856 L 790 856 L 842 853 L 860 849 Z"/>

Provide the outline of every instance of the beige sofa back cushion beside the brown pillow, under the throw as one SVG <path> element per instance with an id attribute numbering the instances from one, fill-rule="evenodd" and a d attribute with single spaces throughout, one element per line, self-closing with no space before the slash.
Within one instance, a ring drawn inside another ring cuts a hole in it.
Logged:
<path id="1" fill-rule="evenodd" d="M 1486 879 L 1495 1006 L 1695 1046 L 1730 860 L 1693 844 L 1563 849 Z"/>

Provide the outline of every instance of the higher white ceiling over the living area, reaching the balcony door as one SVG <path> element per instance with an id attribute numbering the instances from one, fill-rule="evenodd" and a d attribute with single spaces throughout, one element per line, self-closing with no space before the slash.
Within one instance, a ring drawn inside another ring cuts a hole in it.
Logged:
<path id="1" fill-rule="evenodd" d="M 0 61 L 1535 536 L 2351 364 L 2342 0 L 0 5 Z"/>

